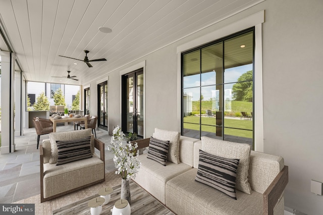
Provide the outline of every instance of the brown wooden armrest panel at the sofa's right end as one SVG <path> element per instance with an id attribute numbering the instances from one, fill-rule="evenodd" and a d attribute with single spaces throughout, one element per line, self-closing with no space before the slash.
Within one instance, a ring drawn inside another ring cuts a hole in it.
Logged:
<path id="1" fill-rule="evenodd" d="M 283 170 L 276 176 L 273 182 L 262 194 L 263 214 L 274 214 L 275 205 L 282 196 L 287 183 L 288 166 L 284 166 Z"/>

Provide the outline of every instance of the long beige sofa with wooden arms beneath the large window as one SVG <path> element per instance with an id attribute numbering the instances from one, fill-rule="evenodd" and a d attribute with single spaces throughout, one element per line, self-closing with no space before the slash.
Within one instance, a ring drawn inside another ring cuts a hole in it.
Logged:
<path id="1" fill-rule="evenodd" d="M 251 192 L 247 194 L 236 189 L 235 200 L 217 189 L 195 181 L 199 150 L 206 148 L 203 148 L 201 140 L 179 137 L 179 164 L 168 161 L 166 166 L 163 166 L 147 158 L 147 154 L 144 153 L 139 156 L 141 168 L 133 179 L 174 213 L 284 214 L 284 189 L 288 182 L 288 167 L 284 166 L 282 157 L 250 151 L 247 175 Z M 149 139 L 136 141 L 139 148 L 147 147 Z M 167 137 L 164 140 L 167 140 Z M 208 140 L 226 143 L 216 139 Z"/>

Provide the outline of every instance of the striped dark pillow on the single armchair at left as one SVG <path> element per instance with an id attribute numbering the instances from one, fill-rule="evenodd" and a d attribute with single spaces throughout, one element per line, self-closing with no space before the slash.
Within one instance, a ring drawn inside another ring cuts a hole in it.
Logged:
<path id="1" fill-rule="evenodd" d="M 56 141 L 58 158 L 56 165 L 92 157 L 91 136 L 76 140 Z"/>

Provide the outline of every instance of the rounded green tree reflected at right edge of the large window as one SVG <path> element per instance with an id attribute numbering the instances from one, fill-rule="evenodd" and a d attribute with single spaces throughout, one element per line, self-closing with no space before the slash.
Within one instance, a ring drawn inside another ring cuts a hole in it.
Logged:
<path id="1" fill-rule="evenodd" d="M 238 78 L 239 83 L 232 87 L 233 99 L 237 101 L 252 101 L 252 70 Z"/>

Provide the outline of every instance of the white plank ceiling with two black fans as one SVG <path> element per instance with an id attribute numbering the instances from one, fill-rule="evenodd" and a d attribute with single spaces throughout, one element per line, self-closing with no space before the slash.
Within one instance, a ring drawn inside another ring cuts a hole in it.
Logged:
<path id="1" fill-rule="evenodd" d="M 261 0 L 0 0 L 0 24 L 28 81 L 86 84 Z M 99 27 L 109 27 L 102 33 Z M 1 48 L 1 47 L 0 47 Z M 105 58 L 105 62 L 82 61 Z M 75 65 L 74 63 L 77 63 Z M 79 81 L 52 76 L 77 76 Z"/>

